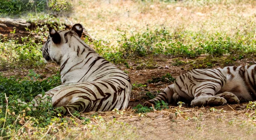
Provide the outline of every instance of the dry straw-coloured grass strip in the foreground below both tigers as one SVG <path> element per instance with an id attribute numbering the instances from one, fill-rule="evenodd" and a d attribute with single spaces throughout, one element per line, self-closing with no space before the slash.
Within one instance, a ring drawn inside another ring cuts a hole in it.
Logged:
<path id="1" fill-rule="evenodd" d="M 134 110 L 89 112 L 81 116 L 90 118 L 82 124 L 72 116 L 53 119 L 46 128 L 32 127 L 27 121 L 23 128 L 13 132 L 12 140 L 249 140 L 255 136 L 256 122 L 248 109 L 233 110 L 234 106 L 217 109 L 174 107 L 148 113 L 135 114 Z M 250 115 L 246 115 L 250 114 Z"/>

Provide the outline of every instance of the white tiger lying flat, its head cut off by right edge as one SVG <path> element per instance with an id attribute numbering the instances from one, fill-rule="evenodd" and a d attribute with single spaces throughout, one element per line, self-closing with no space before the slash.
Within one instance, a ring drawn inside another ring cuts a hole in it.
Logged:
<path id="1" fill-rule="evenodd" d="M 256 100 L 256 65 L 192 69 L 176 79 L 144 106 L 163 100 L 191 102 L 191 106 L 221 106 Z"/>

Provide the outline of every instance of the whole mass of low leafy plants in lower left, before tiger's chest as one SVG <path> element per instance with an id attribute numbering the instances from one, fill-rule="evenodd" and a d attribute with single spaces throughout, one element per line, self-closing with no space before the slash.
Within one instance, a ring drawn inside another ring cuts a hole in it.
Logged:
<path id="1" fill-rule="evenodd" d="M 45 80 L 34 71 L 30 70 L 30 80 L 17 77 L 3 77 L 0 75 L 0 131 L 8 135 L 12 129 L 17 131 L 26 121 L 33 120 L 34 126 L 47 126 L 55 114 L 51 103 L 33 107 L 30 101 L 38 94 L 58 86 L 61 82 L 59 74 Z M 34 81 L 35 80 L 35 81 Z M 5 95 L 8 97 L 8 104 Z M 27 104 L 18 101 L 25 101 Z M 5 113 L 7 112 L 7 116 Z M 5 127 L 3 124 L 5 123 Z"/>

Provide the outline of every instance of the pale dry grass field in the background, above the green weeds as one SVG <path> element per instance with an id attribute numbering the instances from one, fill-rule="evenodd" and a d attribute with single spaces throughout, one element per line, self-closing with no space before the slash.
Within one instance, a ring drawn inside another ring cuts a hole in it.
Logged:
<path id="1" fill-rule="evenodd" d="M 80 0 L 76 3 L 75 14 L 69 21 L 82 23 L 92 36 L 115 45 L 120 39 L 117 29 L 128 34 L 165 28 L 172 33 L 195 32 L 205 37 L 216 33 L 239 37 L 238 32 L 255 37 L 254 0 L 184 0 L 170 3 L 158 0 Z"/>

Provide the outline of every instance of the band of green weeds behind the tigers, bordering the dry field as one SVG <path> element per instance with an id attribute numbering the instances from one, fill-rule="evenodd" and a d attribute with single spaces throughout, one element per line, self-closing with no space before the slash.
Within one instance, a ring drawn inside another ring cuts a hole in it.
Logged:
<path id="1" fill-rule="evenodd" d="M 120 31 L 122 39 L 118 41 L 119 47 L 106 47 L 97 41 L 94 43 L 94 49 L 114 63 L 122 63 L 133 58 L 158 56 L 159 54 L 187 58 L 195 58 L 201 54 L 209 54 L 212 57 L 228 54 L 239 55 L 240 59 L 243 58 L 243 55 L 256 55 L 255 40 L 245 42 L 244 40 L 248 38 L 236 40 L 225 34 L 216 34 L 204 37 L 203 34 L 198 33 L 176 32 L 172 34 L 164 29 L 156 29 L 128 37 L 125 31 Z M 108 43 L 105 42 L 105 44 Z M 176 62 L 174 65 L 182 64 L 182 62 Z"/>

